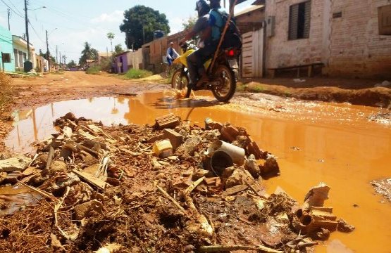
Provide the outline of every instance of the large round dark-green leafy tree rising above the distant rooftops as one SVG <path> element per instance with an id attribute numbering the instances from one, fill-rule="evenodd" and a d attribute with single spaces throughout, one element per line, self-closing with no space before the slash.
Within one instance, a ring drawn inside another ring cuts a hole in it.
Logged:
<path id="1" fill-rule="evenodd" d="M 120 31 L 125 32 L 125 44 L 128 48 L 138 49 L 154 39 L 154 31 L 161 30 L 168 34 L 170 26 L 166 15 L 146 6 L 135 6 L 123 13 Z"/>

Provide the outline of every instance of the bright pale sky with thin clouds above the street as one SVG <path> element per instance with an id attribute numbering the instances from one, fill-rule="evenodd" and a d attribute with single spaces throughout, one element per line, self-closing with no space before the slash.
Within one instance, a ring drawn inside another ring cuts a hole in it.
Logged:
<path id="1" fill-rule="evenodd" d="M 180 32 L 182 21 L 197 15 L 195 0 L 29 0 L 27 6 L 31 25 L 29 26 L 30 44 L 46 52 L 46 34 L 48 31 L 49 51 L 56 57 L 64 54 L 67 63 L 78 63 L 83 44 L 88 41 L 98 51 L 111 51 L 107 33 L 113 32 L 113 46 L 125 46 L 125 34 L 119 26 L 123 22 L 123 12 L 135 5 L 144 5 L 164 13 L 169 21 L 171 34 Z M 242 11 L 252 4 L 252 0 L 238 5 L 235 11 Z M 8 6 L 7 6 L 8 5 Z M 46 8 L 42 8 L 46 6 Z M 11 8 L 11 32 L 13 35 L 25 34 L 24 0 L 0 0 L 0 25 L 8 28 L 7 8 Z"/>

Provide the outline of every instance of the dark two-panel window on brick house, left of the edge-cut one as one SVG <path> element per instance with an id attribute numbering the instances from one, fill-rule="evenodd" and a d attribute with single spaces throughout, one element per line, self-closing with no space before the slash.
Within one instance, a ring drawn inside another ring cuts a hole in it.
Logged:
<path id="1" fill-rule="evenodd" d="M 288 39 L 308 39 L 311 22 L 311 1 L 290 6 Z"/>

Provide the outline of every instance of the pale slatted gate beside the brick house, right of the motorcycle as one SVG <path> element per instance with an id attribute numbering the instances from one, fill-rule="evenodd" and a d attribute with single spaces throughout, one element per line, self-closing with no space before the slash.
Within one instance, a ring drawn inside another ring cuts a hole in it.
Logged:
<path id="1" fill-rule="evenodd" d="M 242 77 L 263 77 L 263 29 L 242 34 Z"/>

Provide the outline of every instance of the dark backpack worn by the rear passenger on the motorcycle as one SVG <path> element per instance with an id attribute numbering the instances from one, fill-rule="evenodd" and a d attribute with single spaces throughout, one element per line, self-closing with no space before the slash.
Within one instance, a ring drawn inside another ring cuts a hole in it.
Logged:
<path id="1" fill-rule="evenodd" d="M 221 19 L 223 20 L 223 26 L 219 27 L 221 34 L 224 32 L 225 24 L 230 18 L 228 13 L 218 11 L 218 9 L 213 9 L 212 11 L 216 11 L 221 15 Z M 242 37 L 240 35 L 240 30 L 237 28 L 235 17 L 231 17 L 230 23 L 228 25 L 227 32 L 225 32 L 223 44 L 221 44 L 221 49 L 227 48 L 242 48 Z"/>

